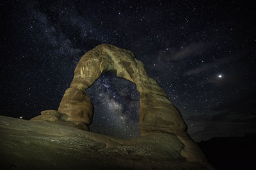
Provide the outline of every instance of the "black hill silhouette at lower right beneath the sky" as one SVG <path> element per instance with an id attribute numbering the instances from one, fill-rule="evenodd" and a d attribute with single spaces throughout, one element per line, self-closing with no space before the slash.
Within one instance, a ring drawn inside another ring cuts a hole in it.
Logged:
<path id="1" fill-rule="evenodd" d="M 256 134 L 211 138 L 198 143 L 208 162 L 217 170 L 256 169 Z"/>

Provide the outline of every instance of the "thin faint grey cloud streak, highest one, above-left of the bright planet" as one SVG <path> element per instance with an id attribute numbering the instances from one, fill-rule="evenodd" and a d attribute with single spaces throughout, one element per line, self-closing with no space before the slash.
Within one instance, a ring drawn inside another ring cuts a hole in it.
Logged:
<path id="1" fill-rule="evenodd" d="M 192 55 L 196 52 L 199 52 L 201 50 L 205 50 L 209 48 L 212 45 L 212 43 L 191 43 L 191 45 L 188 45 L 179 52 L 175 53 L 171 59 L 172 60 L 183 60 L 186 59 L 186 57 L 189 57 L 189 55 Z"/>

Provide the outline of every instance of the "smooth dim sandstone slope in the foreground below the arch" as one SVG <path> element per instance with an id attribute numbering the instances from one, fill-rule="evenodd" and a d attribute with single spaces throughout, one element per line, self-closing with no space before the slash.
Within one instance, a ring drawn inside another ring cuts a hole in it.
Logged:
<path id="1" fill-rule="evenodd" d="M 0 169 L 211 169 L 188 162 L 174 134 L 131 140 L 0 116 Z"/>

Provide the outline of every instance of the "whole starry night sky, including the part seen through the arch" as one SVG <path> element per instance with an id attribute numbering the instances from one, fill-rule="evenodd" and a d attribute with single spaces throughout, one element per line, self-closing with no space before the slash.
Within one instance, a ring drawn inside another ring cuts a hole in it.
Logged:
<path id="1" fill-rule="evenodd" d="M 108 43 L 145 64 L 195 141 L 256 132 L 255 3 L 1 1 L 0 115 L 57 110 L 81 56 Z M 140 94 L 104 73 L 86 90 L 93 132 L 140 136 Z"/>

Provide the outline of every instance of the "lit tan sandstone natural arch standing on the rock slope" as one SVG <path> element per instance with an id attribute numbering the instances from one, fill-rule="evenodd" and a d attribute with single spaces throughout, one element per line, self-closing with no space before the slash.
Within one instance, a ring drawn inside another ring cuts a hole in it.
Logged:
<path id="1" fill-rule="evenodd" d="M 188 162 L 206 164 L 204 155 L 187 134 L 187 126 L 179 110 L 169 101 L 158 83 L 148 76 L 143 63 L 129 50 L 113 45 L 102 44 L 86 52 L 77 64 L 74 79 L 70 88 L 65 91 L 58 112 L 43 111 L 42 115 L 33 120 L 70 122 L 79 129 L 88 131 L 92 124 L 93 105 L 86 89 L 106 71 L 112 71 L 116 76 L 131 81 L 140 92 L 141 136 L 170 134 L 184 145 L 180 147 L 179 154 L 182 157 Z"/>

